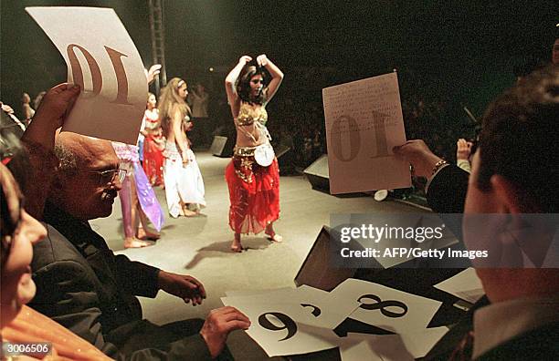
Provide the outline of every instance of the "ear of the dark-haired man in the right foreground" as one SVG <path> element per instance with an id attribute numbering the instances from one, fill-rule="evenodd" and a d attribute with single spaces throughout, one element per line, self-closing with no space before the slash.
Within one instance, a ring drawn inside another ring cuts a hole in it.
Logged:
<path id="1" fill-rule="evenodd" d="M 500 174 L 493 174 L 490 178 L 491 188 L 496 201 L 507 213 L 530 213 L 534 211 L 533 203 L 526 191 L 516 183 Z"/>

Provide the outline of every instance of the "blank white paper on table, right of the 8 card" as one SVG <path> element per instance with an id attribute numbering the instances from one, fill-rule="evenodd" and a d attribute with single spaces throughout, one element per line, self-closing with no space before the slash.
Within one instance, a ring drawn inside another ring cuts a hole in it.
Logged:
<path id="1" fill-rule="evenodd" d="M 470 304 L 475 304 L 485 294 L 480 278 L 472 267 L 455 274 L 448 280 L 435 284 L 434 287 L 448 294 L 454 294 Z"/>

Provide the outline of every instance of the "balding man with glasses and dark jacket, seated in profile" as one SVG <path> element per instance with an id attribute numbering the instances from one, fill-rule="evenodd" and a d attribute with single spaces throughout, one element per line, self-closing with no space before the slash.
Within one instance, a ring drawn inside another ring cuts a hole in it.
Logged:
<path id="1" fill-rule="evenodd" d="M 248 328 L 233 307 L 202 320 L 153 325 L 142 320 L 136 296 L 161 289 L 193 305 L 206 298 L 194 277 L 167 273 L 111 252 L 89 221 L 111 215 L 126 175 L 108 140 L 62 132 L 55 153 L 60 165 L 47 195 L 47 239 L 32 263 L 37 295 L 30 304 L 118 359 L 211 359 L 228 353 L 227 335 Z M 227 354 L 226 354 L 227 355 Z"/>

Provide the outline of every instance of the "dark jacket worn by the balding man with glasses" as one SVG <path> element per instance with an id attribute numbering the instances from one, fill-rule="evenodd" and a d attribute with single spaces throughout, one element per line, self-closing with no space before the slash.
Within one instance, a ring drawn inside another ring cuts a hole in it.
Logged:
<path id="1" fill-rule="evenodd" d="M 165 328 L 142 320 L 135 296 L 155 297 L 159 269 L 115 255 L 89 223 L 52 205 L 45 219 L 47 239 L 34 246 L 37 295 L 30 306 L 113 358 L 211 358 L 200 323 L 193 330 L 185 329 L 192 323 Z"/>

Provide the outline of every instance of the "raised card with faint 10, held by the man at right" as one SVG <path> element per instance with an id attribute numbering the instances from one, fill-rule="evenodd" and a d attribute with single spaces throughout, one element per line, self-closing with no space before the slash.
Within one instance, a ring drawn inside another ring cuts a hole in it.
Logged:
<path id="1" fill-rule="evenodd" d="M 396 73 L 322 89 L 332 194 L 411 186 Z"/>

